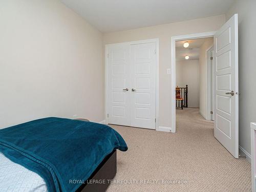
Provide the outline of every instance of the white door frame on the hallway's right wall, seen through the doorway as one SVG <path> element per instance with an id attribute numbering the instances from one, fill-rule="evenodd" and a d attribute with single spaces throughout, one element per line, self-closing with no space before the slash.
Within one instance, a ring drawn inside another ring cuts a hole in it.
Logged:
<path id="1" fill-rule="evenodd" d="M 211 121 L 214 120 L 214 69 L 212 68 L 214 65 L 214 60 L 210 59 L 210 51 L 212 52 L 211 55 L 213 57 L 214 54 L 214 46 L 212 45 L 210 48 L 208 48 L 206 50 L 206 119 Z M 211 62 L 211 66 L 210 66 L 210 62 Z M 210 78 L 211 75 L 211 78 Z M 212 118 L 211 118 L 211 109 L 210 109 L 210 105 L 212 108 Z"/>

